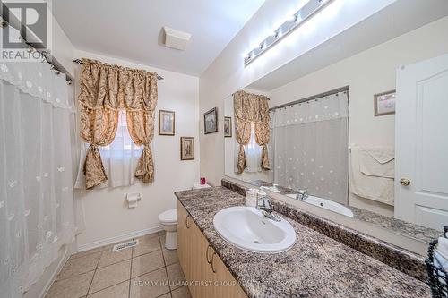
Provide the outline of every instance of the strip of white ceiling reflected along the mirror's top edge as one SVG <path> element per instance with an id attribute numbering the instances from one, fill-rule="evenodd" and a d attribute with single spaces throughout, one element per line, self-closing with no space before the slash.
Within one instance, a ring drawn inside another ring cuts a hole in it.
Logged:
<path id="1" fill-rule="evenodd" d="M 447 0 L 398 0 L 246 88 L 271 91 L 447 15 Z"/>

